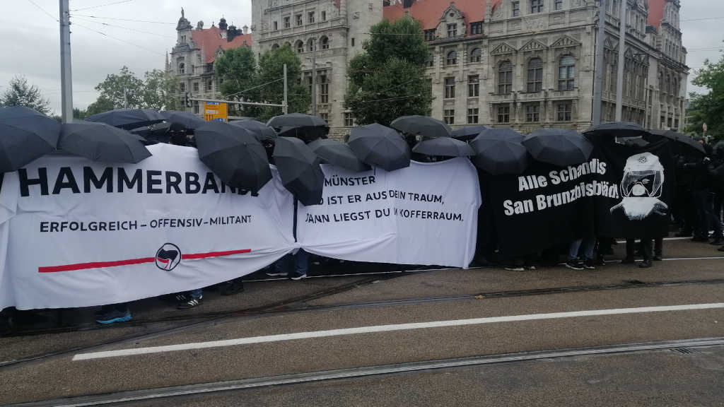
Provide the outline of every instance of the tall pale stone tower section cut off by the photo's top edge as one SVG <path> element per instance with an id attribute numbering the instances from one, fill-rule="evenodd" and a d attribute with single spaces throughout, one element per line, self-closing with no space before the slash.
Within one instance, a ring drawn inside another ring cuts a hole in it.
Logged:
<path id="1" fill-rule="evenodd" d="M 252 48 L 257 54 L 289 45 L 302 62 L 303 80 L 312 87 L 316 44 L 317 113 L 332 132 L 353 125 L 345 111 L 347 66 L 362 51 L 369 28 L 382 20 L 379 0 L 252 0 Z"/>

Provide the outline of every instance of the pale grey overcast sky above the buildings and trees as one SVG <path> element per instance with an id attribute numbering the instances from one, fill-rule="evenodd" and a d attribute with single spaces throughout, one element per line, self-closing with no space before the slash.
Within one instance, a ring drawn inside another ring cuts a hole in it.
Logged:
<path id="1" fill-rule="evenodd" d="M 50 99 L 51 107 L 59 112 L 59 28 L 54 20 L 58 16 L 58 0 L 0 1 L 7 3 L 4 12 L 0 13 L 0 38 L 3 38 L 0 41 L 0 55 L 3 56 L 0 92 L 7 89 L 7 83 L 14 75 L 25 75 L 30 83 L 41 88 Z M 12 7 L 8 7 L 11 2 Z M 111 4 L 116 2 L 119 4 Z M 222 3 L 224 5 L 220 6 Z M 689 67 L 701 67 L 706 58 L 719 59 L 717 47 L 723 45 L 724 40 L 724 1 L 682 0 L 681 4 L 681 30 L 683 45 L 689 49 Z M 97 93 L 93 87 L 109 73 L 118 72 L 123 65 L 139 76 L 153 68 L 163 69 L 164 53 L 176 42 L 175 28 L 181 7 L 194 27 L 198 20 L 203 20 L 205 27 L 211 26 L 212 21 L 218 24 L 222 15 L 230 25 L 233 22 L 237 27 L 251 26 L 251 0 L 70 0 L 70 9 L 77 9 L 71 12 L 75 106 L 85 108 L 95 101 Z M 712 17 L 719 18 L 694 20 Z M 691 77 L 694 75 L 690 75 L 690 80 Z M 692 89 L 690 84 L 689 90 Z"/>

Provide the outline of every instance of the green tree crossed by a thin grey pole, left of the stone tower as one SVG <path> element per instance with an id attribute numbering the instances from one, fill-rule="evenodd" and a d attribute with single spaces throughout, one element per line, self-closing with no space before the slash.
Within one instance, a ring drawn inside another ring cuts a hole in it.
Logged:
<path id="1" fill-rule="evenodd" d="M 309 111 L 311 96 L 309 89 L 300 83 L 302 63 L 291 46 L 285 45 L 271 49 L 261 55 L 257 74 L 259 101 L 281 104 L 284 100 L 284 64 L 287 64 L 287 92 L 289 113 L 306 113 Z M 282 108 L 264 106 L 257 118 L 266 121 L 270 117 L 282 114 Z"/>

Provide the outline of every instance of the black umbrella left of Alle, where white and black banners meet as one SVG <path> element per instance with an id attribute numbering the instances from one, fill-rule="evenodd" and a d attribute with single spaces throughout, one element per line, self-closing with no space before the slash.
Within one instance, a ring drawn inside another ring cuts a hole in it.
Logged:
<path id="1" fill-rule="evenodd" d="M 505 130 L 505 129 L 491 129 Z M 517 134 L 517 133 L 516 133 Z M 520 138 L 511 137 L 507 131 L 485 131 L 470 142 L 475 151 L 473 164 L 492 175 L 522 174 L 528 168 L 528 150 Z"/>

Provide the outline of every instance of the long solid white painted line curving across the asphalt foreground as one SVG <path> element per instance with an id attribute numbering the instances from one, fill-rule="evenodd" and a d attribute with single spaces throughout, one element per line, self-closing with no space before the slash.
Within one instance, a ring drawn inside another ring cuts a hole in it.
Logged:
<path id="1" fill-rule="evenodd" d="M 688 304 L 678 306 L 647 306 L 639 308 L 622 309 L 594 309 L 587 311 L 553 312 L 550 314 L 527 314 L 510 316 L 489 316 L 486 318 L 451 319 L 447 321 L 415 322 L 408 324 L 373 325 L 368 327 L 343 328 L 339 330 L 323 330 L 311 332 L 295 332 L 281 335 L 266 335 L 255 337 L 240 337 L 230 340 L 212 340 L 209 342 L 182 343 L 179 345 L 151 346 L 148 348 L 120 349 L 118 351 L 101 351 L 91 353 L 78 353 L 73 356 L 74 361 L 88 359 L 114 358 L 119 356 L 145 355 L 148 353 L 164 353 L 173 351 L 190 351 L 193 349 L 221 348 L 224 346 L 250 345 L 252 343 L 280 342 L 282 340 L 310 339 L 313 337 L 331 337 L 340 335 L 358 335 L 371 332 L 393 332 L 403 330 L 421 330 L 439 327 L 460 327 L 464 325 L 492 324 L 497 322 L 534 321 L 539 319 L 573 318 L 576 316 L 601 316 L 620 314 L 641 314 L 647 312 L 688 311 L 695 309 L 720 309 L 724 303 Z"/>

